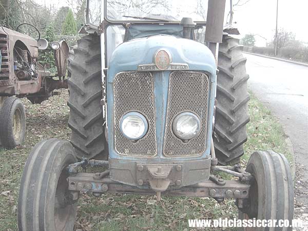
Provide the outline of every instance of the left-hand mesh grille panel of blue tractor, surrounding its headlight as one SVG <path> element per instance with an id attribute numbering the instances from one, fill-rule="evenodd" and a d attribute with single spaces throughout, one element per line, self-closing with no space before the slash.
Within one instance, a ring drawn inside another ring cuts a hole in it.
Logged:
<path id="1" fill-rule="evenodd" d="M 114 79 L 114 146 L 120 155 L 157 155 L 153 76 L 150 72 L 120 72 Z M 136 143 L 123 136 L 119 123 L 123 115 L 138 111 L 147 119 L 148 132 Z"/>

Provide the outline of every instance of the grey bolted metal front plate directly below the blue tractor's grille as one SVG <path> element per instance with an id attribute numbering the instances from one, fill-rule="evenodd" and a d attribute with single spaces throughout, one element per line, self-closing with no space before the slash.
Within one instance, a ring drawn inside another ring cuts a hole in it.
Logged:
<path id="1" fill-rule="evenodd" d="M 109 159 L 110 178 L 123 184 L 162 192 L 208 180 L 210 162 L 210 157 L 162 162 Z"/>

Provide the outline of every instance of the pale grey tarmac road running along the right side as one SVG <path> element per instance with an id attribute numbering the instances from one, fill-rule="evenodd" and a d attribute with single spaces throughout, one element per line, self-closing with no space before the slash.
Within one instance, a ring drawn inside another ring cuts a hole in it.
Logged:
<path id="1" fill-rule="evenodd" d="M 250 76 L 248 88 L 271 109 L 292 141 L 297 167 L 295 211 L 307 214 L 308 67 L 252 54 L 244 56 Z"/>

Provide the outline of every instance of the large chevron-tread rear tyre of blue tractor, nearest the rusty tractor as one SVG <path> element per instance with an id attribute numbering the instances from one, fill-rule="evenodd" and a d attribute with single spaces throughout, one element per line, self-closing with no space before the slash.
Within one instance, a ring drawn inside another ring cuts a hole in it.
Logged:
<path id="1" fill-rule="evenodd" d="M 106 159 L 105 134 L 101 100 L 102 67 L 101 45 L 98 35 L 82 37 L 69 61 L 68 80 L 71 143 L 78 158 Z"/>

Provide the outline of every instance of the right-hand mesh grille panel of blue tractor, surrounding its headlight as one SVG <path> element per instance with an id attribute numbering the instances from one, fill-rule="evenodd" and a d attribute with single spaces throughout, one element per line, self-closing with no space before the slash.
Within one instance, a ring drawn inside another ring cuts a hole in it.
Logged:
<path id="1" fill-rule="evenodd" d="M 206 149 L 208 76 L 202 72 L 175 71 L 170 74 L 164 156 L 198 156 Z M 201 131 L 187 143 L 172 132 L 172 120 L 177 114 L 190 111 L 199 116 Z"/>

